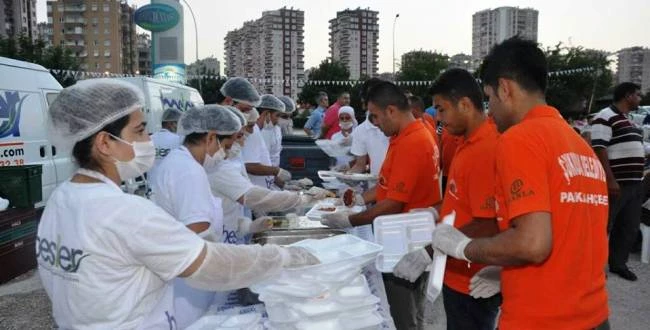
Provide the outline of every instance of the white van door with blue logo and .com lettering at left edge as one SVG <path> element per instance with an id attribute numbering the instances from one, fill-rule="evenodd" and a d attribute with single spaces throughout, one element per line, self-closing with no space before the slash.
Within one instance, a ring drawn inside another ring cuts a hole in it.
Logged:
<path id="1" fill-rule="evenodd" d="M 43 202 L 57 182 L 44 106 L 39 91 L 0 89 L 0 166 L 41 164 Z"/>

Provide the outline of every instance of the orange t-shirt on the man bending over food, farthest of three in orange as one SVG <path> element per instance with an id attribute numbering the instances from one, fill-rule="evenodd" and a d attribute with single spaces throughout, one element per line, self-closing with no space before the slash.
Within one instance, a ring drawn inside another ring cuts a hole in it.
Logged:
<path id="1" fill-rule="evenodd" d="M 402 212 L 431 207 L 441 200 L 440 153 L 424 123 L 415 120 L 391 138 L 379 172 L 377 201 L 405 203 Z"/>

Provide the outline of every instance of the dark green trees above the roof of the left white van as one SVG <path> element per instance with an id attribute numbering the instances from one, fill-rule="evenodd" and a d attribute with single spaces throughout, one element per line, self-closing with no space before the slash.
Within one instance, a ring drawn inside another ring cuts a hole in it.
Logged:
<path id="1" fill-rule="evenodd" d="M 72 56 L 72 51 L 62 46 L 47 48 L 43 40 L 32 41 L 25 35 L 16 38 L 0 37 L 0 56 L 40 64 L 50 69 L 52 76 L 63 87 L 77 81 L 76 74 L 70 72 L 79 70 L 79 62 Z"/>

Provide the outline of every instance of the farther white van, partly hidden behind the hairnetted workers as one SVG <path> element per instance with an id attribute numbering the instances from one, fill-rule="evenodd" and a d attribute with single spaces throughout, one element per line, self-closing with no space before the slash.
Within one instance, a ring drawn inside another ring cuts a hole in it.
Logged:
<path id="1" fill-rule="evenodd" d="M 162 128 L 162 114 L 169 108 L 185 111 L 189 108 L 203 105 L 201 94 L 192 87 L 147 77 L 115 78 L 132 83 L 144 93 L 145 107 L 149 133 L 158 132 Z"/>

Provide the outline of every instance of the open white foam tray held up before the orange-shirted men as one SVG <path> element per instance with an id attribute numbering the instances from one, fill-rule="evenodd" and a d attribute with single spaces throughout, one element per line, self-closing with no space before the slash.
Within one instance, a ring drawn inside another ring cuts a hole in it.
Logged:
<path id="1" fill-rule="evenodd" d="M 375 242 L 384 247 L 375 262 L 377 270 L 392 273 L 405 254 L 431 243 L 434 227 L 433 216 L 429 212 L 377 217 L 373 221 Z"/>

